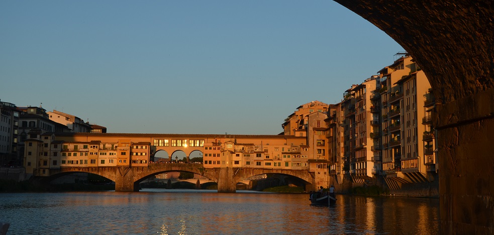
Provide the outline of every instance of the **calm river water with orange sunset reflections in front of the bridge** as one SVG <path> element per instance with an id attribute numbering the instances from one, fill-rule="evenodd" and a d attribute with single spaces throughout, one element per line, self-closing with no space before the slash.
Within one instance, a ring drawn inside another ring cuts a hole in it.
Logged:
<path id="1" fill-rule="evenodd" d="M 439 200 L 308 194 L 141 192 L 0 193 L 7 234 L 437 234 Z"/>

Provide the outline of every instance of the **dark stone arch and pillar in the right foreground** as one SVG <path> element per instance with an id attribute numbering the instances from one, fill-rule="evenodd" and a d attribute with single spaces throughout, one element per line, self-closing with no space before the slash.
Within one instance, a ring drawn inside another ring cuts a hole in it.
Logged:
<path id="1" fill-rule="evenodd" d="M 430 81 L 440 232 L 494 233 L 494 2 L 334 1 L 398 42 Z"/>

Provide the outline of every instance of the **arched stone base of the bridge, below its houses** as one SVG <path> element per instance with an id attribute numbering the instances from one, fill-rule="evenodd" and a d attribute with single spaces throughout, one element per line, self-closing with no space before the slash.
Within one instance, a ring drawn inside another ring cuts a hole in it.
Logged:
<path id="1" fill-rule="evenodd" d="M 218 183 L 218 192 L 235 192 L 238 182 L 260 174 L 282 174 L 300 178 L 306 190 L 315 190 L 315 177 L 307 170 L 280 170 L 256 168 L 204 168 L 203 164 L 192 163 L 151 163 L 147 167 L 60 167 L 50 170 L 51 175 L 44 181 L 51 181 L 75 172 L 87 172 L 103 176 L 115 182 L 115 191 L 139 191 L 139 183 L 149 176 L 185 171 L 202 175 Z"/>

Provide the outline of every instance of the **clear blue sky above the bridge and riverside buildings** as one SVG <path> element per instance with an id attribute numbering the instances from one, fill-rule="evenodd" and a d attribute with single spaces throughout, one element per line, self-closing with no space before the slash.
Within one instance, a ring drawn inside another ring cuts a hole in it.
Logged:
<path id="1" fill-rule="evenodd" d="M 0 99 L 119 133 L 278 134 L 404 51 L 333 1 L 0 1 Z"/>

